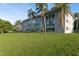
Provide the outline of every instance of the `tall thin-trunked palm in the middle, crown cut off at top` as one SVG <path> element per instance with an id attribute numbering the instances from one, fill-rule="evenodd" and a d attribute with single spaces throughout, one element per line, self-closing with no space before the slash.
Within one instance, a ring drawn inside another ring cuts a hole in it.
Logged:
<path id="1" fill-rule="evenodd" d="M 44 31 L 46 33 L 46 19 L 45 19 L 45 13 L 48 10 L 47 3 L 36 3 L 36 10 L 38 10 L 37 13 L 41 12 L 41 18 L 43 18 L 43 26 L 44 26 Z"/>

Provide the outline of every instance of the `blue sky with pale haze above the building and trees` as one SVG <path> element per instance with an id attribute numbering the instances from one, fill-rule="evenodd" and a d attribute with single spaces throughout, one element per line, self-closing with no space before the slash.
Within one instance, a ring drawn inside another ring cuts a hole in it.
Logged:
<path id="1" fill-rule="evenodd" d="M 48 3 L 48 8 L 51 9 L 54 4 Z M 35 3 L 0 3 L 0 19 L 8 20 L 12 24 L 16 20 L 25 20 L 28 18 L 28 10 L 32 8 L 36 9 Z M 71 11 L 73 13 L 79 12 L 79 3 L 70 4 Z"/>

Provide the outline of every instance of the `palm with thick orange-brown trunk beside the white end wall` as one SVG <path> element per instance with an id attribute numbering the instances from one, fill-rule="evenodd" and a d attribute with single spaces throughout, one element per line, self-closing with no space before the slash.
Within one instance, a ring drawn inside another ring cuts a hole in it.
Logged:
<path id="1" fill-rule="evenodd" d="M 59 26 L 62 25 L 64 27 L 64 18 L 65 15 L 68 15 L 68 11 L 70 10 L 69 4 L 68 3 L 56 3 L 55 8 L 60 10 L 59 12 Z M 59 28 L 58 28 L 59 30 Z"/>

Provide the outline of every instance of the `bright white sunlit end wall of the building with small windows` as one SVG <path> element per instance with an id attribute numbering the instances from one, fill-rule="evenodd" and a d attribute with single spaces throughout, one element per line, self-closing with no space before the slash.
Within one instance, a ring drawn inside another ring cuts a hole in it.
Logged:
<path id="1" fill-rule="evenodd" d="M 72 15 L 65 15 L 65 32 L 64 33 L 72 33 L 74 26 L 74 19 Z"/>

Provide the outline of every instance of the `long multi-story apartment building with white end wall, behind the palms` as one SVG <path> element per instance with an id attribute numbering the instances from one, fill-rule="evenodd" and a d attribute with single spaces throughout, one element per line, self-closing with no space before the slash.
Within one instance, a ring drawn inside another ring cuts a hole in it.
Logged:
<path id="1" fill-rule="evenodd" d="M 46 14 L 46 30 L 54 32 L 72 33 L 74 26 L 74 19 L 72 13 L 67 10 L 68 15 L 65 14 L 63 26 L 59 22 L 59 10 L 52 8 Z M 33 20 L 26 19 L 22 22 L 22 31 L 43 31 L 43 19 L 37 15 Z"/>

